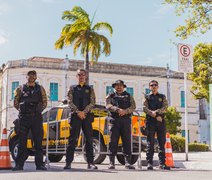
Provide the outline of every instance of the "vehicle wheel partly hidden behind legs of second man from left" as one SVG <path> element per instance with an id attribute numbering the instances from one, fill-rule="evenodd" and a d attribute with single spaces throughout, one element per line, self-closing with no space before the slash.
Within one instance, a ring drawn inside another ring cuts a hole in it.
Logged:
<path id="1" fill-rule="evenodd" d="M 83 147 L 83 149 L 84 152 L 86 152 L 85 146 Z M 99 154 L 99 149 L 101 152 L 106 152 L 106 148 L 102 144 L 102 142 L 100 142 L 97 138 L 93 138 L 94 164 L 101 164 L 106 158 L 106 154 Z M 83 155 L 83 157 L 85 161 L 87 161 L 85 154 Z"/>

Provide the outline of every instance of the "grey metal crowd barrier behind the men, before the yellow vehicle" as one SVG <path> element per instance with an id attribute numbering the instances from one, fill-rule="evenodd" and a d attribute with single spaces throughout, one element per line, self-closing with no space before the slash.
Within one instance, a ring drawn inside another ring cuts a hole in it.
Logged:
<path id="1" fill-rule="evenodd" d="M 137 136 L 135 136 L 136 138 L 136 142 L 134 142 L 133 139 L 133 122 L 131 123 L 131 152 L 132 155 L 138 156 L 138 160 L 137 160 L 137 166 L 138 168 L 142 169 L 142 157 L 141 157 L 141 152 L 142 152 L 142 133 L 140 131 L 140 126 L 141 126 L 141 116 L 139 114 L 139 112 L 135 111 L 134 112 L 136 114 L 136 117 L 138 117 L 137 120 Z M 106 149 L 104 149 L 102 151 L 101 149 L 101 145 L 98 145 L 98 150 L 97 152 L 95 151 L 94 156 L 95 155 L 108 155 L 109 154 L 109 139 L 110 139 L 110 125 L 111 123 L 109 122 L 108 118 L 104 118 L 101 116 L 101 111 L 99 111 L 98 113 L 98 117 L 94 118 L 94 122 L 95 125 L 98 123 L 98 126 L 96 127 L 93 124 L 93 130 L 96 132 L 98 131 L 98 141 L 104 142 L 104 147 L 106 146 Z M 46 124 L 46 164 L 47 164 L 47 168 L 50 168 L 50 161 L 49 161 L 49 155 L 51 154 L 60 154 L 60 155 L 65 155 L 66 154 L 66 148 L 68 145 L 68 136 L 70 135 L 70 125 L 67 119 L 64 120 L 54 120 L 54 121 L 50 121 L 50 111 L 47 112 L 47 124 Z M 131 118 L 132 119 L 132 118 Z M 62 121 L 63 121 L 63 129 L 62 130 L 61 127 L 62 126 Z M 102 122 L 104 121 L 104 122 Z M 135 125 L 135 124 L 134 124 Z M 54 137 L 53 139 L 50 138 L 50 130 L 52 130 L 51 128 L 54 128 L 55 132 L 54 132 Z M 60 130 L 60 131 L 59 131 Z M 62 131 L 62 132 L 61 132 Z M 59 134 L 60 132 L 60 134 Z M 60 135 L 61 133 L 63 133 L 63 138 L 60 139 Z M 96 139 L 97 137 L 95 137 Z M 60 143 L 60 141 L 63 141 L 62 145 Z M 53 142 L 53 145 L 51 145 L 51 142 Z M 119 144 L 120 145 L 120 144 Z M 135 145 L 138 146 L 138 149 L 136 151 L 134 151 Z M 77 153 L 80 153 L 82 155 L 85 155 L 85 151 L 84 148 L 85 147 L 85 143 L 84 143 L 84 135 L 83 132 L 81 131 L 79 139 L 78 139 L 78 147 L 76 148 Z M 117 152 L 117 155 L 123 155 L 123 153 L 121 151 Z"/>

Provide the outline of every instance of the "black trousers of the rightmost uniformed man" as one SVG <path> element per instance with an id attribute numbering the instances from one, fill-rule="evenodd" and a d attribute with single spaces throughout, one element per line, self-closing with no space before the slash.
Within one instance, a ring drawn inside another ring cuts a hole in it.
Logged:
<path id="1" fill-rule="evenodd" d="M 155 134 L 158 140 L 158 157 L 161 165 L 165 164 L 165 143 L 166 143 L 166 126 L 165 122 L 147 123 L 147 162 L 153 164 Z"/>

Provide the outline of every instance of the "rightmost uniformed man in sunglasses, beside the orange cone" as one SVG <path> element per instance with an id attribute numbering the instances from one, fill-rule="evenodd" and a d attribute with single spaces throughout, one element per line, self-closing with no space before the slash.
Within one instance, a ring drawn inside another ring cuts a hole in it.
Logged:
<path id="1" fill-rule="evenodd" d="M 166 142 L 166 126 L 164 120 L 164 113 L 168 107 L 168 102 L 165 95 L 158 92 L 158 82 L 152 80 L 149 83 L 151 94 L 145 96 L 144 112 L 146 113 L 146 127 L 147 127 L 147 169 L 153 170 L 153 156 L 154 156 L 154 141 L 155 133 L 159 145 L 159 162 L 160 169 L 170 170 L 170 167 L 165 165 L 165 142 Z"/>

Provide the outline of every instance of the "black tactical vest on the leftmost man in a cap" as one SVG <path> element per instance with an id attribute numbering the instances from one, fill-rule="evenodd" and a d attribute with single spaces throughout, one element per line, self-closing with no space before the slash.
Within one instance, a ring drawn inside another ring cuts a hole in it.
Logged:
<path id="1" fill-rule="evenodd" d="M 41 87 L 37 83 L 34 87 L 23 85 L 20 95 L 20 110 L 22 113 L 33 113 L 38 103 L 42 102 Z"/>

